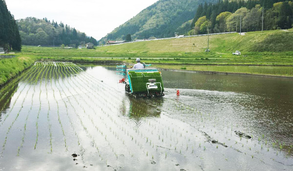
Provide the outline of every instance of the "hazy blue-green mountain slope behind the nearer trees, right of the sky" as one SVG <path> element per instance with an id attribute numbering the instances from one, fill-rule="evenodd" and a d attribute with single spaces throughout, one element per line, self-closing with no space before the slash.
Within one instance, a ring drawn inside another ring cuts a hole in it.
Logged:
<path id="1" fill-rule="evenodd" d="M 182 24 L 194 18 L 199 4 L 215 1 L 217 0 L 159 0 L 115 28 L 99 43 L 105 44 L 108 40 L 124 40 L 127 34 L 130 34 L 132 39 L 174 36 L 177 29 L 185 30 L 183 29 L 185 25 Z"/>

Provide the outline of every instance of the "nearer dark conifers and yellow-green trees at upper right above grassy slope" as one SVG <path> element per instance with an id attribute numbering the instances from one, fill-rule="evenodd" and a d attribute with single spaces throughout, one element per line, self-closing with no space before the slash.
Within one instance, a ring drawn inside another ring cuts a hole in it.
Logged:
<path id="1" fill-rule="evenodd" d="M 293 1 L 219 0 L 200 4 L 186 34 L 259 31 L 293 27 Z M 263 28 L 262 28 L 263 21 Z"/>

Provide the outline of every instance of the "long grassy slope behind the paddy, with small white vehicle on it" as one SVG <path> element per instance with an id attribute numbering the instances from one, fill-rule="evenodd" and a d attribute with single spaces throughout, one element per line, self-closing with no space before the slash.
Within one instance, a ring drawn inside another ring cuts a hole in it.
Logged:
<path id="1" fill-rule="evenodd" d="M 204 52 L 207 39 L 208 36 L 201 36 L 145 41 L 99 46 L 93 50 L 24 46 L 21 54 L 63 61 L 107 59 L 134 63 L 134 59 L 140 57 L 152 64 L 293 65 L 293 32 L 290 31 L 250 32 L 246 36 L 237 33 L 213 35 L 210 36 L 209 53 Z M 235 50 L 240 50 L 242 55 L 232 55 Z"/>

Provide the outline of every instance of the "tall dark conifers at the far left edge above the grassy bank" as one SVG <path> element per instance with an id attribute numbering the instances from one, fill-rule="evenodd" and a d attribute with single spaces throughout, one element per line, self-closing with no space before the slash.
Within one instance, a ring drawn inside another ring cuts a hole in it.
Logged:
<path id="1" fill-rule="evenodd" d="M 18 27 L 4 0 L 0 0 L 0 47 L 8 50 L 21 50 Z"/>

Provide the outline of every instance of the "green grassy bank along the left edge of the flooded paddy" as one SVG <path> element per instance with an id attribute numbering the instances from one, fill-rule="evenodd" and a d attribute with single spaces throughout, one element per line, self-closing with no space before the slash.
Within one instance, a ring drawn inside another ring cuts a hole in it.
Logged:
<path id="1" fill-rule="evenodd" d="M 34 64 L 31 57 L 0 58 L 0 87 Z"/>

